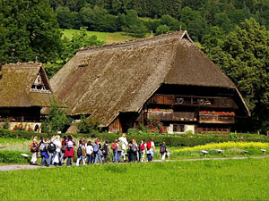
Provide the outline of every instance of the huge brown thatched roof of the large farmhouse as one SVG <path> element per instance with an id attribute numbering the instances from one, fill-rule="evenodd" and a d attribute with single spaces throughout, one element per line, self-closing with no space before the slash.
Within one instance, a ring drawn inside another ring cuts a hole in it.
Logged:
<path id="1" fill-rule="evenodd" d="M 79 51 L 50 84 L 70 114 L 91 113 L 103 126 L 138 112 L 161 84 L 236 88 L 187 31 Z"/>

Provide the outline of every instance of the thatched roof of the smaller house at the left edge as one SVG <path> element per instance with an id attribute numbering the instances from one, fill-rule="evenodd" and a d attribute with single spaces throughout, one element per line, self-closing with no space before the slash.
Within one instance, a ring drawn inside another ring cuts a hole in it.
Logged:
<path id="1" fill-rule="evenodd" d="M 31 86 L 40 73 L 44 84 L 51 89 L 42 63 L 5 64 L 0 79 L 0 107 L 49 106 L 51 93 L 33 92 Z M 51 91 L 51 90 L 50 90 Z"/>

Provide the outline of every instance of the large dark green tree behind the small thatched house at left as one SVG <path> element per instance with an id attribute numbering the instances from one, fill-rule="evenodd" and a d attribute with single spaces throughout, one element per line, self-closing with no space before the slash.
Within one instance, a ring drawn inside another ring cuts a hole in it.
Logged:
<path id="1" fill-rule="evenodd" d="M 56 60 L 61 33 L 48 0 L 2 0 L 1 16 L 0 62 Z"/>

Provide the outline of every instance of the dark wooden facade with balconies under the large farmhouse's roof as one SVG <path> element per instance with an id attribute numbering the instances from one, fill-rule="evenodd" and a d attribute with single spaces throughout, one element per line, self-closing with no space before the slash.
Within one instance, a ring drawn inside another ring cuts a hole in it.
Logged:
<path id="1" fill-rule="evenodd" d="M 136 123 L 155 119 L 169 133 L 230 132 L 240 113 L 236 102 L 227 89 L 163 85 L 143 105 Z"/>

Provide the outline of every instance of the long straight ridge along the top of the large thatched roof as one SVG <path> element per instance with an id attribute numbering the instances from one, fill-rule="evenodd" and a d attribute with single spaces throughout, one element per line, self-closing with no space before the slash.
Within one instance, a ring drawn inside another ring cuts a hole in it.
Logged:
<path id="1" fill-rule="evenodd" d="M 174 32 L 171 32 L 171 33 L 166 33 L 166 34 L 161 34 L 159 36 L 153 36 L 153 37 L 149 37 L 149 38 L 143 38 L 143 39 L 134 39 L 134 40 L 128 40 L 126 42 L 119 42 L 119 43 L 113 43 L 113 44 L 108 44 L 108 45 L 103 45 L 103 46 L 89 46 L 89 47 L 86 47 L 86 48 L 81 48 L 78 53 L 80 52 L 85 52 L 85 51 L 88 51 L 88 50 L 100 50 L 100 49 L 104 49 L 104 48 L 108 48 L 108 47 L 123 47 L 123 46 L 131 46 L 131 45 L 134 45 L 134 44 L 139 44 L 139 43 L 143 43 L 143 42 L 146 42 L 146 41 L 153 41 L 153 40 L 158 40 L 160 38 L 169 38 L 169 37 L 174 37 L 174 36 L 180 36 L 183 35 L 184 33 L 187 33 L 186 30 L 178 30 L 178 31 L 174 31 Z"/>

